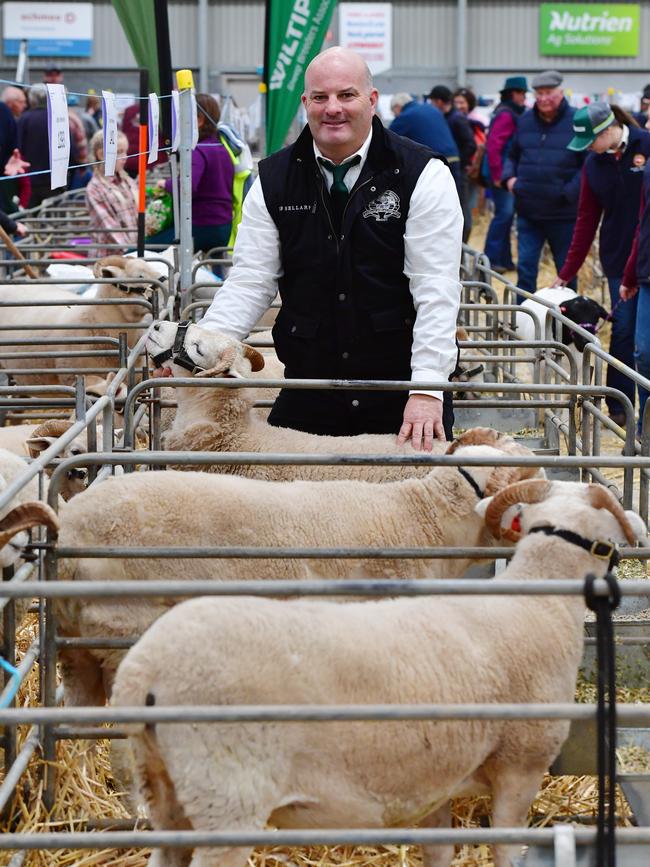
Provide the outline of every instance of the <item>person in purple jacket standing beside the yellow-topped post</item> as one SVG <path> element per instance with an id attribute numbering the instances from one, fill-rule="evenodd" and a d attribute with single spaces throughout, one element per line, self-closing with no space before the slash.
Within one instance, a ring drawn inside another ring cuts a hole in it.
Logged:
<path id="1" fill-rule="evenodd" d="M 221 143 L 217 123 L 219 104 L 208 93 L 196 95 L 199 142 L 192 151 L 192 238 L 194 250 L 207 252 L 227 247 L 232 228 L 232 184 L 235 174 L 230 154 Z M 172 179 L 161 182 L 168 193 Z M 174 228 L 147 239 L 152 244 L 171 244 Z"/>

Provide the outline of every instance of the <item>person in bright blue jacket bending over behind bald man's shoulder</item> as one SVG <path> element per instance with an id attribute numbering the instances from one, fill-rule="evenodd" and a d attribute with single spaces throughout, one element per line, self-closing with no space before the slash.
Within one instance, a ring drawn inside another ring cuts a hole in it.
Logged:
<path id="1" fill-rule="evenodd" d="M 410 93 L 396 93 L 390 101 L 390 110 L 395 119 L 389 129 L 442 154 L 449 163 L 460 195 L 460 157 L 442 112 L 429 102 L 416 102 Z"/>

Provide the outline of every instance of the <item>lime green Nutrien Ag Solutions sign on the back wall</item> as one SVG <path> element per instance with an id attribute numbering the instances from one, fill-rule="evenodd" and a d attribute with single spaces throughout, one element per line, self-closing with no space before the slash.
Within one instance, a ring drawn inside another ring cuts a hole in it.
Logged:
<path id="1" fill-rule="evenodd" d="M 636 57 L 640 8 L 632 3 L 542 3 L 539 53 Z"/>

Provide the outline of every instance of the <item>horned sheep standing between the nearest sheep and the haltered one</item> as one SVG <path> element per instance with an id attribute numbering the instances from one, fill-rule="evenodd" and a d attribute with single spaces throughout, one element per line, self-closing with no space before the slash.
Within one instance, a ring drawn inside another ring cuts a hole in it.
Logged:
<path id="1" fill-rule="evenodd" d="M 470 431 L 451 451 L 465 456 L 530 455 L 495 431 Z M 493 445 L 464 445 L 489 441 Z M 489 546 L 474 511 L 477 497 L 528 478 L 533 468 L 436 467 L 420 479 L 382 485 L 361 481 L 265 482 L 210 473 L 133 473 L 91 485 L 61 510 L 63 546 L 145 543 L 148 546 L 438 547 Z M 75 581 L 182 578 L 345 578 L 363 572 L 386 578 L 460 576 L 474 561 L 408 559 L 70 559 L 59 575 Z M 68 636 L 140 635 L 173 600 L 69 599 L 58 606 Z M 122 654 L 62 651 L 70 705 L 102 704 Z"/>

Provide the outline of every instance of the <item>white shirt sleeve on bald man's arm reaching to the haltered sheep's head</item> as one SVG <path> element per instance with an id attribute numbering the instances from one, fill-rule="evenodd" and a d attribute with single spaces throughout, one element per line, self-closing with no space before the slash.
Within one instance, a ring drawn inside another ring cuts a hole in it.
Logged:
<path id="1" fill-rule="evenodd" d="M 244 199 L 243 218 L 233 251 L 233 266 L 199 322 L 243 340 L 271 306 L 282 276 L 278 229 L 256 178 Z"/>

